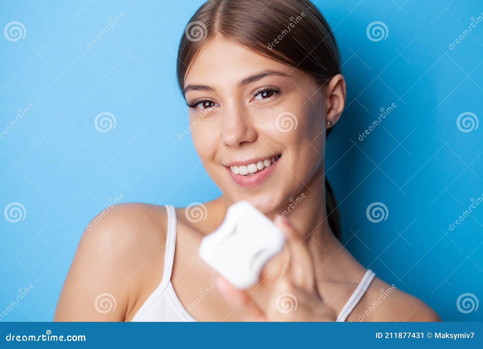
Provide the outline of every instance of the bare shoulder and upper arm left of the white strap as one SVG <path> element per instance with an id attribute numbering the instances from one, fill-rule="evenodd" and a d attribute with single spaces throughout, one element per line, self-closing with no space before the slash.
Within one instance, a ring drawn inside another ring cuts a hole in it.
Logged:
<path id="1" fill-rule="evenodd" d="M 55 320 L 124 321 L 162 277 L 166 226 L 162 206 L 128 203 L 99 212 L 80 238 Z"/>

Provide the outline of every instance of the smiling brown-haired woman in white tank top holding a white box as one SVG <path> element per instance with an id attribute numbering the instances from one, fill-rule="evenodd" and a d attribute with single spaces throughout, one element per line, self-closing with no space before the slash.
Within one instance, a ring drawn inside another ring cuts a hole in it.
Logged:
<path id="1" fill-rule="evenodd" d="M 439 320 L 339 241 L 324 153 L 345 82 L 335 39 L 312 3 L 207 1 L 186 27 L 177 75 L 196 151 L 223 195 L 196 204 L 201 218 L 192 206 L 133 203 L 90 224 L 56 321 Z M 280 216 L 287 237 L 246 291 L 198 257 L 202 237 L 241 199 Z"/>

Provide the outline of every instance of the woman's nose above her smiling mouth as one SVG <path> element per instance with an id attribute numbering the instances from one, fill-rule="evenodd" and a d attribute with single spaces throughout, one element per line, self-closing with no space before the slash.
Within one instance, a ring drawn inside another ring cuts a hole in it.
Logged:
<path id="1" fill-rule="evenodd" d="M 223 131 L 221 143 L 228 147 L 240 147 L 243 143 L 254 142 L 258 134 L 248 111 L 232 107 L 222 115 Z"/>

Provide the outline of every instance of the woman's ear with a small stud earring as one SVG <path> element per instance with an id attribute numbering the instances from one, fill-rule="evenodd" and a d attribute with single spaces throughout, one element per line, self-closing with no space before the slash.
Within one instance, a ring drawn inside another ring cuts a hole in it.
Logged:
<path id="1" fill-rule="evenodd" d="M 327 83 L 325 100 L 326 123 L 327 128 L 330 128 L 339 120 L 345 106 L 345 80 L 341 74 L 335 75 Z"/>

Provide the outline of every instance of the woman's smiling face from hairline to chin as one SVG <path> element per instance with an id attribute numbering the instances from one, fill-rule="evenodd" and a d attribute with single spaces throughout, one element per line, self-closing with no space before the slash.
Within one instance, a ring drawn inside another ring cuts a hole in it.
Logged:
<path id="1" fill-rule="evenodd" d="M 186 74 L 185 97 L 196 151 L 228 199 L 267 213 L 313 177 L 326 138 L 319 87 L 234 42 L 204 44 Z"/>

